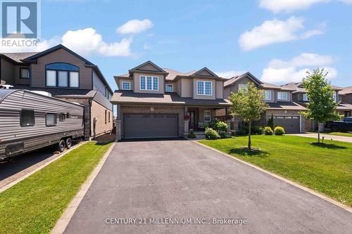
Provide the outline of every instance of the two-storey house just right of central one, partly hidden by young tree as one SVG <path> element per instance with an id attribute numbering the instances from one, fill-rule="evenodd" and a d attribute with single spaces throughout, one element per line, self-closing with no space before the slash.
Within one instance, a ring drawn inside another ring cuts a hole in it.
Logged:
<path id="1" fill-rule="evenodd" d="M 225 82 L 224 96 L 228 98 L 232 92 L 237 92 L 239 89 L 246 89 L 248 83 L 254 84 L 258 89 L 262 89 L 265 93 L 265 101 L 268 103 L 268 110 L 263 117 L 256 123 L 260 126 L 268 124 L 271 115 L 274 117 L 275 126 L 283 126 L 288 133 L 298 133 L 306 130 L 306 120 L 299 112 L 306 110 L 305 107 L 295 103 L 292 99 L 294 89 L 289 87 L 277 86 L 261 82 L 250 72 L 232 77 Z M 225 110 L 220 110 L 217 113 L 219 118 L 223 118 Z M 238 131 L 244 126 L 241 119 L 232 117 L 233 131 Z"/>

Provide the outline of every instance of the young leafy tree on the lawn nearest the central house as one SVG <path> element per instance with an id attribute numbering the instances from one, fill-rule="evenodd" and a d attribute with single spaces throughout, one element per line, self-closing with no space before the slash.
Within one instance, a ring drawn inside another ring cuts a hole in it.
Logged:
<path id="1" fill-rule="evenodd" d="M 250 150 L 252 122 L 259 120 L 268 108 L 268 104 L 264 101 L 264 91 L 257 89 L 254 84 L 248 83 L 248 89 L 239 89 L 237 93 L 231 93 L 230 101 L 232 103 L 231 114 L 249 124 L 248 148 Z"/>

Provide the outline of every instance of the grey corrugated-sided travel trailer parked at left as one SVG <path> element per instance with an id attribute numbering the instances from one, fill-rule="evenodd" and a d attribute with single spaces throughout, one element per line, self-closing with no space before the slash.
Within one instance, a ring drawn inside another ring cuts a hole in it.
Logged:
<path id="1" fill-rule="evenodd" d="M 0 161 L 84 135 L 84 107 L 44 93 L 0 89 Z"/>

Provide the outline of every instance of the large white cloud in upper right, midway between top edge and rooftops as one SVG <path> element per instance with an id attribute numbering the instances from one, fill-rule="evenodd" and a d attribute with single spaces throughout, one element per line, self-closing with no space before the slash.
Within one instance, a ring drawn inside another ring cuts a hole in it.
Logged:
<path id="1" fill-rule="evenodd" d="M 303 18 L 296 17 L 291 17 L 287 20 L 266 20 L 262 25 L 241 34 L 239 37 L 239 46 L 243 51 L 251 51 L 254 48 L 269 44 L 307 39 L 324 33 L 324 23 L 320 24 L 315 30 L 301 32 L 304 29 L 303 22 Z"/>

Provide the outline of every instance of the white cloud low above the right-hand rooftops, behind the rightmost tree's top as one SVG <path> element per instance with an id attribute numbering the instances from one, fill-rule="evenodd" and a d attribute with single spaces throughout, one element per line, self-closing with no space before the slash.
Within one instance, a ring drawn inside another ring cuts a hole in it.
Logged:
<path id="1" fill-rule="evenodd" d="M 261 80 L 275 84 L 301 82 L 307 72 L 316 67 L 322 67 L 328 72 L 327 79 L 334 79 L 337 77 L 337 70 L 330 66 L 332 63 L 334 58 L 317 53 L 301 53 L 288 61 L 273 59 L 263 70 Z"/>

